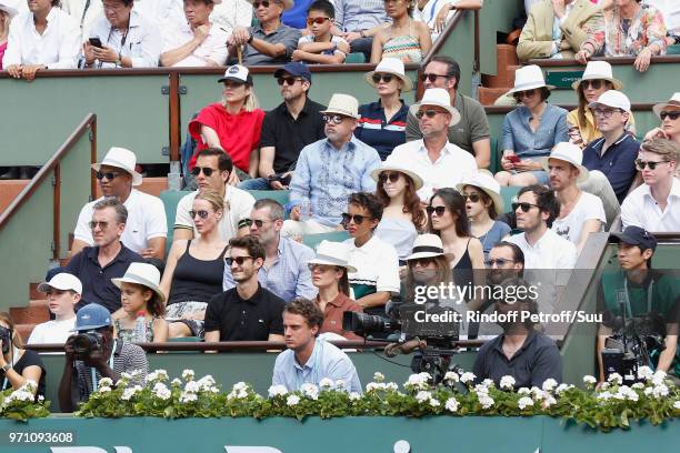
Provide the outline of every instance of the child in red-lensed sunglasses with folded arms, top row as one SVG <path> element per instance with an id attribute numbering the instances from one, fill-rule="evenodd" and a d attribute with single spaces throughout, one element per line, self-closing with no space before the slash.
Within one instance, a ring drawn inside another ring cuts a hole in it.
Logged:
<path id="1" fill-rule="evenodd" d="M 322 64 L 343 63 L 350 47 L 343 38 L 331 34 L 336 9 L 330 1 L 314 0 L 307 11 L 310 34 L 300 38 L 292 60 Z"/>

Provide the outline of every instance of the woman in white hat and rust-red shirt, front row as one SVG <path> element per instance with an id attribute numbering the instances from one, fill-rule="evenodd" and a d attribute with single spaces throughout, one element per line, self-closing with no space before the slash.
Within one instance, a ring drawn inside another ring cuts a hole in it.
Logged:
<path id="1" fill-rule="evenodd" d="M 348 272 L 357 269 L 348 263 L 349 249 L 340 242 L 323 241 L 317 246 L 317 255 L 308 262 L 312 284 L 319 289 L 313 302 L 323 313 L 321 333 L 332 332 L 348 340 L 362 340 L 354 332 L 342 330 L 346 311 L 361 312 L 361 305 L 350 299 Z"/>

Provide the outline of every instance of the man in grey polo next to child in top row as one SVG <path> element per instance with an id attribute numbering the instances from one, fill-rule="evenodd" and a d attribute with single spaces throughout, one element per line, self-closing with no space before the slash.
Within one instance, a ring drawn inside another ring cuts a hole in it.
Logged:
<path id="1" fill-rule="evenodd" d="M 300 30 L 286 26 L 281 21 L 283 11 L 293 6 L 292 0 L 249 0 L 259 23 L 254 27 L 233 29 L 227 40 L 229 54 L 237 56 L 237 49 L 244 46 L 243 64 L 281 64 L 290 60 Z"/>

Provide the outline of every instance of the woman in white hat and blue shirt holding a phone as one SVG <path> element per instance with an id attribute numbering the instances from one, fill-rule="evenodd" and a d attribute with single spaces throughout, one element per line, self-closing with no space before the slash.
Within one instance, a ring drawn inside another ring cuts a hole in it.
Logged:
<path id="1" fill-rule="evenodd" d="M 548 184 L 540 158 L 559 142 L 569 140 L 567 110 L 548 102 L 550 90 L 541 68 L 527 66 L 514 72 L 514 88 L 507 94 L 522 105 L 506 115 L 501 147 L 503 171 L 496 173 L 501 185 Z"/>

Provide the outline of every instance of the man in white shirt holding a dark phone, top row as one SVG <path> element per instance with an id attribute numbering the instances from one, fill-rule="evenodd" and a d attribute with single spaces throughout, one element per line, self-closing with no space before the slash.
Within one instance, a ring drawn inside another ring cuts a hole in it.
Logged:
<path id="1" fill-rule="evenodd" d="M 104 0 L 104 16 L 83 46 L 86 68 L 156 68 L 161 51 L 158 27 L 132 9 L 132 0 Z"/>

